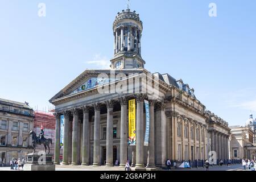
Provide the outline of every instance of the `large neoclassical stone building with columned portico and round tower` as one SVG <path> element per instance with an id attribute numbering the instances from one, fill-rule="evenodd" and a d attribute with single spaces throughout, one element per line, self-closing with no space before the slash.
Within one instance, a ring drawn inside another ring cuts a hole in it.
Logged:
<path id="1" fill-rule="evenodd" d="M 55 105 L 55 163 L 60 155 L 60 115 L 64 115 L 63 161 L 68 165 L 124 166 L 136 169 L 208 159 L 216 150 L 228 159 L 228 123 L 205 110 L 194 89 L 168 74 L 150 73 L 141 56 L 143 24 L 129 9 L 115 17 L 114 58 L 108 70 L 84 71 L 49 100 Z M 102 92 L 104 90 L 104 92 Z M 136 100 L 136 146 L 128 145 L 128 101 Z M 149 144 L 144 146 L 149 101 Z"/>

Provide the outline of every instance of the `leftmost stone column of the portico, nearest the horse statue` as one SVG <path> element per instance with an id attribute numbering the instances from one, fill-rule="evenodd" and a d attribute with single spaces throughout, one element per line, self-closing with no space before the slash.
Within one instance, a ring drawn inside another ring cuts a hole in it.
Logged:
<path id="1" fill-rule="evenodd" d="M 60 114 L 54 113 L 56 119 L 55 125 L 55 148 L 54 148 L 54 164 L 60 164 Z"/>

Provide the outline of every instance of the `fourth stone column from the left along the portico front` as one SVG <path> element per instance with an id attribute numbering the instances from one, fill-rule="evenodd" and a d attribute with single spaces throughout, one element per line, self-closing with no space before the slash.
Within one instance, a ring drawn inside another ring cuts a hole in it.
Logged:
<path id="1" fill-rule="evenodd" d="M 89 165 L 89 107 L 82 107 L 84 114 L 82 125 L 82 166 Z"/>

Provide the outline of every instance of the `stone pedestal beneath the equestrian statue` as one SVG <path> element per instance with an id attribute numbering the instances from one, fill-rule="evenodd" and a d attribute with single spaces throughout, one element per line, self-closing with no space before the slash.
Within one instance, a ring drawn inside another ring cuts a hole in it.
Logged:
<path id="1" fill-rule="evenodd" d="M 27 155 L 27 163 L 24 171 L 55 171 L 55 164 L 52 162 L 52 154 L 32 153 Z"/>

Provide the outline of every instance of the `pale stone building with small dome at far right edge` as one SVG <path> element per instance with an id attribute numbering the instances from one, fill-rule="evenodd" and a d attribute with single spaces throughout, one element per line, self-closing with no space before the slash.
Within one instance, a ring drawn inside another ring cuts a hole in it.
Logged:
<path id="1" fill-rule="evenodd" d="M 256 121 L 253 114 L 246 121 L 245 126 L 230 126 L 230 158 L 254 159 L 256 156 L 255 129 Z"/>

